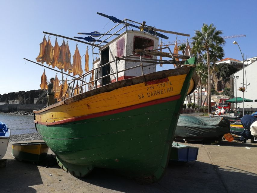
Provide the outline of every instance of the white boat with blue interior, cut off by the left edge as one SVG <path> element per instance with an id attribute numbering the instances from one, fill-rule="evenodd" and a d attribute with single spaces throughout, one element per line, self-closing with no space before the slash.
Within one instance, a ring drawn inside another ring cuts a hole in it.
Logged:
<path id="1" fill-rule="evenodd" d="M 0 159 L 5 156 L 10 135 L 11 132 L 8 126 L 0 122 Z"/>

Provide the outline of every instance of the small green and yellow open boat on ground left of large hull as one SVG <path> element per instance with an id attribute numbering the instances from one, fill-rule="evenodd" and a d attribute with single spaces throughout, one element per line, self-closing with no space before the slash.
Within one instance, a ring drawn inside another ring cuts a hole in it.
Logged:
<path id="1" fill-rule="evenodd" d="M 45 142 L 12 144 L 12 155 L 19 161 L 40 162 L 47 156 L 49 147 Z"/>

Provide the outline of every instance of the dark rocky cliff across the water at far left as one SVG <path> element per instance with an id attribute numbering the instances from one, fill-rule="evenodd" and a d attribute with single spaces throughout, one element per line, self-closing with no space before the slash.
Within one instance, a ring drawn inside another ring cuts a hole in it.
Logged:
<path id="1" fill-rule="evenodd" d="M 0 94 L 0 102 L 5 103 L 8 103 L 8 100 L 19 100 L 23 104 L 34 104 L 34 98 L 39 98 L 36 104 L 46 104 L 46 93 L 40 89 Z"/>

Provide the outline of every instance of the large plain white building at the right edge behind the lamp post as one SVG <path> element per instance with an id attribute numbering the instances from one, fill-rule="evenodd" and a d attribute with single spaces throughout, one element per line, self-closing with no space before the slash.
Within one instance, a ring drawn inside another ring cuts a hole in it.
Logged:
<path id="1" fill-rule="evenodd" d="M 237 71 L 236 73 L 232 74 L 232 76 L 239 76 L 238 79 L 233 80 L 233 87 L 231 90 L 234 92 L 234 96 L 242 97 L 243 98 L 243 92 L 237 90 L 239 87 L 245 87 L 246 92 L 244 92 L 244 97 L 246 99 L 256 100 L 257 99 L 257 81 L 256 81 L 256 73 L 257 72 L 257 61 L 253 62 L 250 65 L 247 65 L 245 67 L 245 74 L 244 74 L 244 84 L 250 83 L 250 85 L 246 86 L 243 85 L 243 69 Z M 235 87 L 235 81 L 237 81 L 237 87 Z M 238 103 L 240 106 L 240 109 L 243 108 L 243 103 Z M 238 106 L 237 104 L 237 106 Z M 253 110 L 257 110 L 257 102 L 247 102 L 245 103 L 245 109 L 250 109 L 252 107 Z"/>

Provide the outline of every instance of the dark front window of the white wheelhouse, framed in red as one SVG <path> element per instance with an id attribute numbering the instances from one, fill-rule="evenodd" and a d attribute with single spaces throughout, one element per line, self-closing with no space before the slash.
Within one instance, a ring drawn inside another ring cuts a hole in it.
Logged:
<path id="1" fill-rule="evenodd" d="M 153 40 L 148 39 L 146 37 L 141 37 L 141 36 L 134 36 L 134 41 L 133 41 L 133 53 L 136 53 L 136 49 L 153 49 Z M 136 56 L 139 56 L 137 54 Z M 143 58 L 152 58 L 151 55 L 143 54 Z"/>

